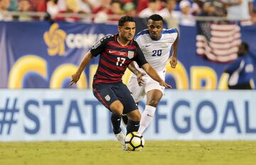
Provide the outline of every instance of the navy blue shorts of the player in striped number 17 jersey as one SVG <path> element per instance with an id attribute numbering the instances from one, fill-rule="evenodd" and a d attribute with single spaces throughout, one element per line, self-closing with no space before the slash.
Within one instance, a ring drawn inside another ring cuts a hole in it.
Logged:
<path id="1" fill-rule="evenodd" d="M 119 100 L 124 106 L 124 114 L 138 109 L 131 92 L 122 82 L 116 84 L 93 84 L 93 94 L 106 108 L 110 110 L 110 104 Z"/>

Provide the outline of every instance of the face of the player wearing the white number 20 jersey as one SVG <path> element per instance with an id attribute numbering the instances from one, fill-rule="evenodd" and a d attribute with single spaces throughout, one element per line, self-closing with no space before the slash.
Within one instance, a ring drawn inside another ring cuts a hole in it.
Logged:
<path id="1" fill-rule="evenodd" d="M 162 21 L 153 21 L 149 19 L 147 26 L 149 29 L 149 35 L 152 39 L 158 40 L 159 38 L 161 38 L 161 31 L 164 28 Z"/>

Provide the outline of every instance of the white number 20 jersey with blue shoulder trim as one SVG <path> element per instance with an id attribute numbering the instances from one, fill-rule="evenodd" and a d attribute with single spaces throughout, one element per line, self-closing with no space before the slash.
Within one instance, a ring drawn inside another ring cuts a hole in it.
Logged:
<path id="1" fill-rule="evenodd" d="M 177 36 L 176 28 L 164 29 L 159 40 L 152 40 L 149 36 L 149 30 L 145 29 L 139 32 L 134 39 L 138 42 L 146 61 L 156 71 L 163 71 L 171 53 L 171 45 L 174 44 Z M 137 64 L 135 66 L 139 69 Z M 139 70 L 144 72 L 143 69 Z"/>

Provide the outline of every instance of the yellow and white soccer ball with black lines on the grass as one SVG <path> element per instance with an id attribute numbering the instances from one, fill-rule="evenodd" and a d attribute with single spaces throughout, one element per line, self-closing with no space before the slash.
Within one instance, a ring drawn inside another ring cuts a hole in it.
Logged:
<path id="1" fill-rule="evenodd" d="M 130 132 L 125 137 L 125 148 L 127 151 L 140 151 L 144 147 L 144 137 L 138 132 Z"/>

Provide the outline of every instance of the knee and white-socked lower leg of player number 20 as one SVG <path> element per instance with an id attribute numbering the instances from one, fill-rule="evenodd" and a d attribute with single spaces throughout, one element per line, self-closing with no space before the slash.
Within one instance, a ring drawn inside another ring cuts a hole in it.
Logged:
<path id="1" fill-rule="evenodd" d="M 146 106 L 142 113 L 142 119 L 138 130 L 139 133 L 142 134 L 146 130 L 146 128 L 149 127 L 149 124 L 152 122 L 154 118 L 156 106 L 161 100 L 162 96 L 163 93 L 158 89 L 154 89 L 146 93 Z"/>

